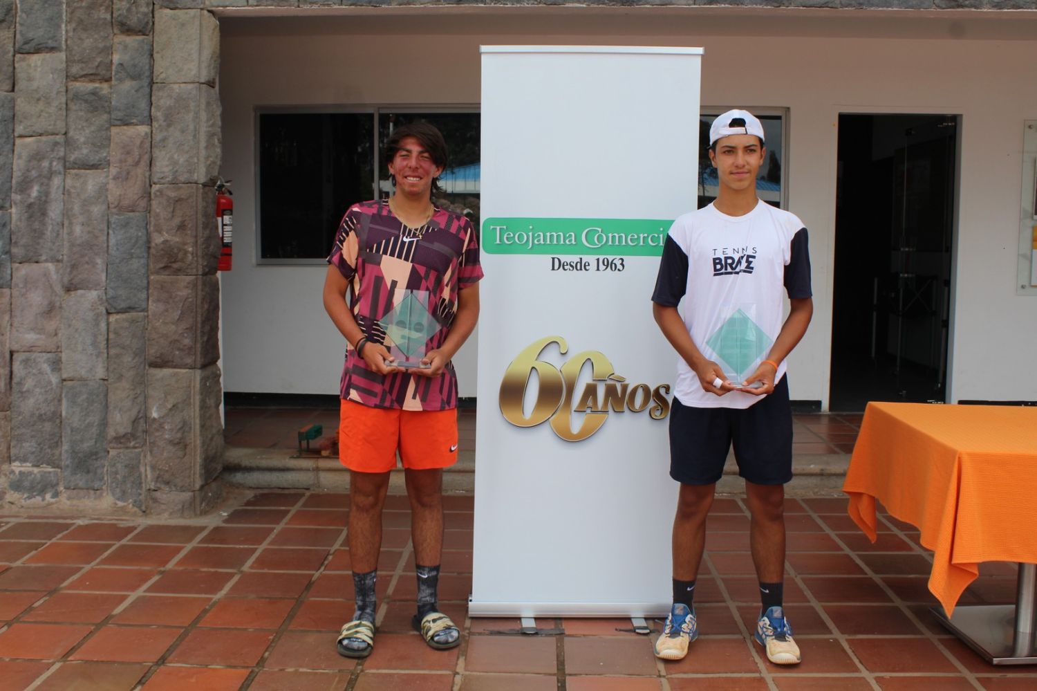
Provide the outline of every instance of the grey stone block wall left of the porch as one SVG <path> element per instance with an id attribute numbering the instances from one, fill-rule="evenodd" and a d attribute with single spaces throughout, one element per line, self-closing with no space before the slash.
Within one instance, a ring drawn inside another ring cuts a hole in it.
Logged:
<path id="1" fill-rule="evenodd" d="M 200 4 L 0 0 L 8 505 L 191 515 L 219 494 L 219 28 Z"/>

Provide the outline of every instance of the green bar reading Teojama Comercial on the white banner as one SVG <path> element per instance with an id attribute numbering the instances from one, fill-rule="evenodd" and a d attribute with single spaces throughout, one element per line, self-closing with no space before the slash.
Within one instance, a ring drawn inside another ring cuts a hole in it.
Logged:
<path id="1" fill-rule="evenodd" d="M 661 256 L 673 221 L 640 218 L 487 218 L 491 254 Z"/>

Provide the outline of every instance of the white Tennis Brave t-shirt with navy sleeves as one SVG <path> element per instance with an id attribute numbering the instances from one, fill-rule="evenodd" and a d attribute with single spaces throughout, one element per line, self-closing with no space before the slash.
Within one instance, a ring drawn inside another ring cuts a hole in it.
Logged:
<path id="1" fill-rule="evenodd" d="M 652 302 L 680 305 L 695 346 L 741 383 L 767 357 L 784 322 L 782 289 L 791 299 L 811 297 L 807 229 L 793 214 L 763 201 L 745 216 L 727 216 L 709 204 L 673 222 Z M 779 364 L 775 383 L 785 375 Z M 763 396 L 702 390 L 682 358 L 674 395 L 695 408 L 749 408 Z"/>

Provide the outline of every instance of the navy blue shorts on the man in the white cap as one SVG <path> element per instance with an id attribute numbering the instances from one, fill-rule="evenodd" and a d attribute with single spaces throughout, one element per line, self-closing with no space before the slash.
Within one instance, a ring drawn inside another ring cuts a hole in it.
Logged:
<path id="1" fill-rule="evenodd" d="M 676 397 L 670 408 L 670 477 L 684 485 L 713 485 L 734 444 L 738 474 L 756 485 L 792 479 L 792 407 L 788 377 L 749 408 L 691 408 Z"/>

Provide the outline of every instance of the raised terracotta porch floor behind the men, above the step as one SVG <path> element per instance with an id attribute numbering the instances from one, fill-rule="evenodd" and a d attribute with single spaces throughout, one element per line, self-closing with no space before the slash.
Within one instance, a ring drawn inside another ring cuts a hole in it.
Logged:
<path id="1" fill-rule="evenodd" d="M 474 448 L 475 408 L 458 411 L 458 433 L 466 448 Z M 792 422 L 792 452 L 796 455 L 811 453 L 850 453 L 861 427 L 863 415 L 859 414 L 797 414 Z M 325 406 L 263 407 L 227 406 L 224 421 L 224 441 L 230 446 L 245 448 L 299 448 L 299 430 L 310 424 L 320 424 L 329 436 L 338 427 L 338 403 L 332 397 Z M 466 443 L 470 442 L 470 443 Z M 316 442 L 310 442 L 316 449 Z"/>

